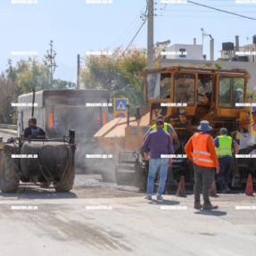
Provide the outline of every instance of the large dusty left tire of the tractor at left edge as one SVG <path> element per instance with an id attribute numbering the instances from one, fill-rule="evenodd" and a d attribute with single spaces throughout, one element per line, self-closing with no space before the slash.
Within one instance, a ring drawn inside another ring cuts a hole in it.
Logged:
<path id="1" fill-rule="evenodd" d="M 0 153 L 0 190 L 3 193 L 17 193 L 20 183 L 18 171 L 19 161 L 12 158 L 11 153 L 2 151 Z"/>

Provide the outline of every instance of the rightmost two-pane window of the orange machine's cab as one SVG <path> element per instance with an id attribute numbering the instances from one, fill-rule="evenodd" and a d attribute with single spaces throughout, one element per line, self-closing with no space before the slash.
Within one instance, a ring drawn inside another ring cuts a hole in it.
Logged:
<path id="1" fill-rule="evenodd" d="M 244 103 L 244 78 L 221 76 L 219 78 L 219 107 L 243 108 L 235 103 Z"/>

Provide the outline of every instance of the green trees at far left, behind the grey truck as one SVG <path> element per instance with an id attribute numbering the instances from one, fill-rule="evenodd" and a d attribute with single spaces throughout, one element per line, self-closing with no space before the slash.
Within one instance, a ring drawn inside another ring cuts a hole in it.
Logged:
<path id="1" fill-rule="evenodd" d="M 11 103 L 17 103 L 18 96 L 44 89 L 70 89 L 75 84 L 62 79 L 54 79 L 55 52 L 53 41 L 51 49 L 47 51 L 45 62 L 39 62 L 36 58 L 21 59 L 12 65 L 12 60 L 7 61 L 7 69 L 0 74 L 0 123 L 16 123 L 16 108 Z M 13 115 L 10 115 L 13 112 Z"/>

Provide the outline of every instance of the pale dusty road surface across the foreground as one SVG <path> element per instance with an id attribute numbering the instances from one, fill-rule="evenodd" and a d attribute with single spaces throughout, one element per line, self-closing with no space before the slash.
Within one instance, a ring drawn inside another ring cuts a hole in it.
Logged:
<path id="1" fill-rule="evenodd" d="M 2 194 L 3 255 L 249 255 L 255 250 L 256 202 L 219 194 L 215 211 L 194 210 L 194 196 L 145 200 L 135 187 L 76 175 L 70 193 L 22 184 Z"/>

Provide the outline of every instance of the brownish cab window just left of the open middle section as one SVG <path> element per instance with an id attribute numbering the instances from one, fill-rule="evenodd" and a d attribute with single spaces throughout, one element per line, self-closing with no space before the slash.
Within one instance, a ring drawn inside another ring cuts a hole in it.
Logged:
<path id="1" fill-rule="evenodd" d="M 195 75 L 190 73 L 176 73 L 174 81 L 174 103 L 194 105 Z"/>

